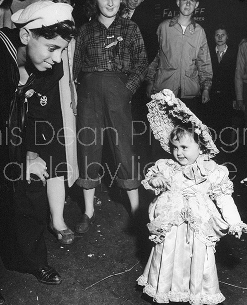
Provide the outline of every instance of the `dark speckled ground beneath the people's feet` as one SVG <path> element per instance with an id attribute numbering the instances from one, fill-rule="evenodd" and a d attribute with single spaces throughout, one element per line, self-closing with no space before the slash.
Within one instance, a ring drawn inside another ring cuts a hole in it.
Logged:
<path id="1" fill-rule="evenodd" d="M 143 149 L 145 141 L 146 138 L 140 136 L 136 140 L 142 160 L 140 168 L 150 157 L 150 151 Z M 246 155 L 243 149 L 238 149 L 226 158 L 237 166 L 237 177 L 233 180 L 234 199 L 243 221 L 247 221 L 247 187 L 239 181 L 245 176 Z M 235 174 L 231 173 L 231 176 Z M 136 224 L 133 233 L 124 192 L 114 185 L 108 188 L 107 184 L 109 181 L 105 179 L 97 188 L 102 205 L 95 206 L 95 223 L 88 232 L 76 234 L 74 244 L 62 246 L 49 231 L 46 232 L 49 264 L 63 277 L 61 285 L 43 285 L 32 275 L 7 271 L 0 266 L 0 291 L 7 305 L 152 304 L 136 286 L 151 249 L 145 224 L 152 197 L 140 188 L 142 221 Z M 83 199 L 76 186 L 70 194 L 72 202 L 65 206 L 64 216 L 67 225 L 74 229 L 81 215 Z M 247 235 L 241 240 L 226 236 L 216 250 L 221 292 L 226 297 L 224 305 L 247 305 Z"/>

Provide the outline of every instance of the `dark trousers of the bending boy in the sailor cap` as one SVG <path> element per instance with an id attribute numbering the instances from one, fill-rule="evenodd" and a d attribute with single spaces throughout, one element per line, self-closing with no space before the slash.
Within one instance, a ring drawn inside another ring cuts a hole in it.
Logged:
<path id="1" fill-rule="evenodd" d="M 47 265 L 44 230 L 47 219 L 47 188 L 41 181 L 28 184 L 19 179 L 16 191 L 5 206 L 4 228 L 1 231 L 1 256 L 9 270 L 31 272 Z M 32 178 L 38 178 L 32 175 Z M 2 224 L 1 224 L 2 225 Z M 3 234 L 4 232 L 4 234 Z"/>

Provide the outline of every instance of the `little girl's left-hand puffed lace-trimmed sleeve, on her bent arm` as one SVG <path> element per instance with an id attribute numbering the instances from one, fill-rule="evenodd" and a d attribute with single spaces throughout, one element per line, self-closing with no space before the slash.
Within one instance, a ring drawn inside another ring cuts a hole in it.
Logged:
<path id="1" fill-rule="evenodd" d="M 155 192 L 156 195 L 160 194 L 161 192 L 165 191 L 165 188 L 154 188 L 152 187 L 149 182 L 152 178 L 163 176 L 165 180 L 168 182 L 170 177 L 170 171 L 171 168 L 167 164 L 167 159 L 160 159 L 158 160 L 154 166 L 150 167 L 148 169 L 148 172 L 145 176 L 145 179 L 142 180 L 143 186 L 146 188 L 146 190 L 152 190 Z"/>

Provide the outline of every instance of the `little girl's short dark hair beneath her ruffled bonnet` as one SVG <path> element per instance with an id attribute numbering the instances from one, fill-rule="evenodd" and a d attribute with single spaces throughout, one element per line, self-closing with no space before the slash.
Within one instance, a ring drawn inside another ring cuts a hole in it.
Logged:
<path id="1" fill-rule="evenodd" d="M 207 149 L 205 147 L 204 141 L 202 139 L 202 137 L 200 136 L 200 134 L 196 133 L 196 131 L 199 130 L 197 127 L 195 127 L 194 125 L 190 124 L 181 124 L 181 125 L 177 125 L 176 127 L 173 128 L 173 130 L 170 133 L 170 137 L 169 137 L 169 146 L 170 146 L 170 150 L 172 152 L 172 147 L 173 141 L 179 141 L 180 139 L 182 139 L 184 136 L 190 136 L 194 139 L 195 143 L 197 143 L 199 145 L 200 150 L 203 153 L 207 152 Z"/>

